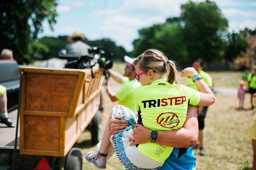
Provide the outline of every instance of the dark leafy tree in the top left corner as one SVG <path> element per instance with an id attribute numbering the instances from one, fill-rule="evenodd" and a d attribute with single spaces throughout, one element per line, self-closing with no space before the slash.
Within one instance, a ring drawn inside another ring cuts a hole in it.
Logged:
<path id="1" fill-rule="evenodd" d="M 19 63 L 41 58 L 47 47 L 36 42 L 37 34 L 45 19 L 53 29 L 56 5 L 56 0 L 1 0 L 0 50 L 12 49 Z"/>

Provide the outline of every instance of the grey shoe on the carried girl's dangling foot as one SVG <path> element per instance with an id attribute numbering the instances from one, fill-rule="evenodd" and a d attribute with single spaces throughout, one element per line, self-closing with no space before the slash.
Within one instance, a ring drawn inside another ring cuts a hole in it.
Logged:
<path id="1" fill-rule="evenodd" d="M 99 151 L 90 151 L 85 155 L 85 159 L 88 162 L 93 163 L 97 168 L 105 169 L 107 164 L 107 157 L 102 157 L 99 154 Z"/>

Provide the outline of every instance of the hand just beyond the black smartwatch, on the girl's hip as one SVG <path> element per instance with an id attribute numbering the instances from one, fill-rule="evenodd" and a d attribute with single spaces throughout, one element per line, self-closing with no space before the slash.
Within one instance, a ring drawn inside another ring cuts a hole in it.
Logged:
<path id="1" fill-rule="evenodd" d="M 146 143 L 146 142 L 151 142 L 151 130 L 146 128 L 143 125 L 134 125 L 134 127 L 136 127 L 133 130 L 133 136 L 129 137 L 129 141 L 132 141 L 132 143 L 130 143 L 130 146 L 133 145 L 137 145 L 140 143 Z"/>

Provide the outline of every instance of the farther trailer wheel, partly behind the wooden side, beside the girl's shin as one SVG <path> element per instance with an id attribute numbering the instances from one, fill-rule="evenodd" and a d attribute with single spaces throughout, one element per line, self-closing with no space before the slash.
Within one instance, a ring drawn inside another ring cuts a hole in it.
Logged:
<path id="1" fill-rule="evenodd" d="M 100 138 L 101 138 L 101 128 L 102 128 L 101 113 L 102 113 L 102 111 L 98 110 L 92 119 L 91 133 L 92 133 L 92 144 L 93 145 L 96 145 L 100 141 Z"/>

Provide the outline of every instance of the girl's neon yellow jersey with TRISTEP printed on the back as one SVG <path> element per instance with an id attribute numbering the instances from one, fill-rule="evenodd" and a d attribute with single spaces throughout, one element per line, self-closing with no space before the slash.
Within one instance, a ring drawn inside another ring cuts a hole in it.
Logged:
<path id="1" fill-rule="evenodd" d="M 186 120 L 188 104 L 197 105 L 200 92 L 183 85 L 170 84 L 166 78 L 135 90 L 135 107 L 139 121 L 151 130 L 181 128 Z M 173 150 L 170 146 L 143 143 L 137 147 L 141 153 L 158 162 L 164 162 Z"/>

